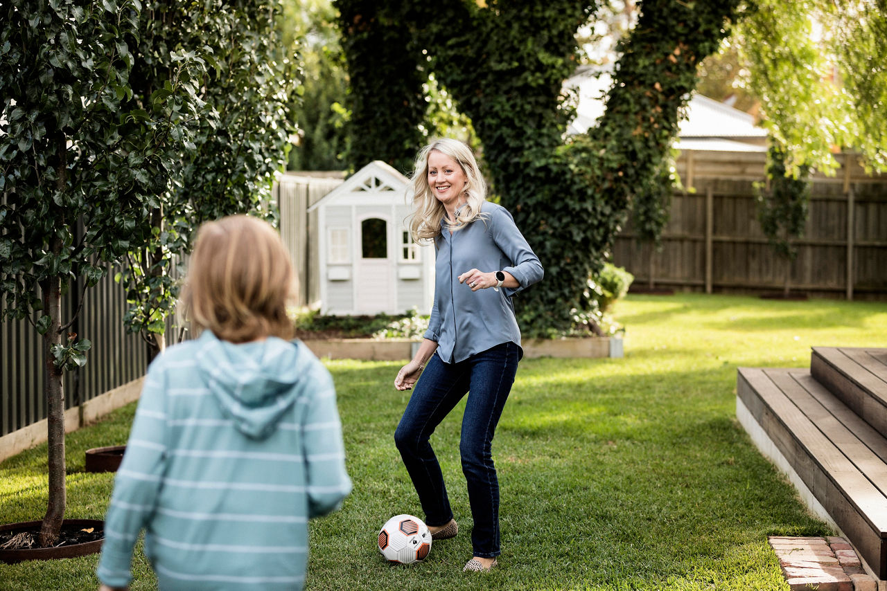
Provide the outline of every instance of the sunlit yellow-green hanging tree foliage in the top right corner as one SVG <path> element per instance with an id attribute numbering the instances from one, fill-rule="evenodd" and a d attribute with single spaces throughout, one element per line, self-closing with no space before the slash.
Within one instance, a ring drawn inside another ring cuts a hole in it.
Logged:
<path id="1" fill-rule="evenodd" d="M 748 4 L 732 43 L 789 174 L 834 171 L 840 147 L 887 170 L 885 35 L 883 0 Z"/>

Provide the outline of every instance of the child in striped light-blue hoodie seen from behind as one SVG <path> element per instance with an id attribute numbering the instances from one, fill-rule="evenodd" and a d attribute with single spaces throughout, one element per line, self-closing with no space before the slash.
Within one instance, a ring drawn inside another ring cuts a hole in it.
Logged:
<path id="1" fill-rule="evenodd" d="M 148 369 L 98 564 L 127 588 L 140 530 L 168 589 L 301 589 L 308 520 L 351 490 L 329 372 L 293 336 L 294 272 L 243 215 L 199 231 L 184 303 L 203 332 Z"/>

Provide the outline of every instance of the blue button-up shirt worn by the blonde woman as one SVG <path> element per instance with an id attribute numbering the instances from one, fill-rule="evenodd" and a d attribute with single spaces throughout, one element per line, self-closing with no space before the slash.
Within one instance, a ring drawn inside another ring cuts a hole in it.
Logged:
<path id="1" fill-rule="evenodd" d="M 450 233 L 446 220 L 435 238 L 435 303 L 425 338 L 437 342 L 437 354 L 447 363 L 466 360 L 492 346 L 521 345 L 514 318 L 515 293 L 542 279 L 542 263 L 503 206 L 484 201 L 482 216 Z M 520 284 L 472 292 L 459 276 L 476 268 L 483 273 L 507 271 Z"/>

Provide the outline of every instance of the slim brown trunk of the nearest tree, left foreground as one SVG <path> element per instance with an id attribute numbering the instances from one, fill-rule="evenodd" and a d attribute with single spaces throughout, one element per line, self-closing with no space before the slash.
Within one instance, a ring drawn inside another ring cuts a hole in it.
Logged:
<path id="1" fill-rule="evenodd" d="M 59 238 L 53 244 L 53 252 L 61 248 Z M 43 548 L 55 545 L 59 539 L 61 521 L 65 516 L 67 493 L 65 490 L 65 392 L 62 382 L 62 368 L 55 364 L 52 347 L 61 345 L 61 278 L 52 277 L 41 284 L 43 289 L 43 314 L 51 318 L 50 328 L 43 335 L 43 355 L 45 356 L 45 383 L 47 408 L 47 436 L 49 440 L 49 500 L 46 516 L 40 529 L 40 545 Z"/>

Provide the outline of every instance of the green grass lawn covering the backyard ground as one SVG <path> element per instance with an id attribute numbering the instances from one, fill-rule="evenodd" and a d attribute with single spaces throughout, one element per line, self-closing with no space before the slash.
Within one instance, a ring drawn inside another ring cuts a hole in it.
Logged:
<path id="1" fill-rule="evenodd" d="M 463 574 L 471 517 L 457 408 L 433 444 L 461 526 L 423 564 L 389 566 L 375 549 L 396 513 L 421 517 L 393 433 L 409 393 L 400 363 L 328 362 L 355 489 L 313 523 L 307 588 L 787 589 L 769 534 L 823 535 L 735 418 L 736 368 L 805 367 L 811 346 L 887 346 L 887 305 L 830 300 L 631 296 L 624 359 L 525 360 L 494 440 L 501 486 L 500 569 Z M 83 451 L 125 439 L 133 408 L 67 439 L 67 517 L 100 518 L 110 475 Z M 46 447 L 0 463 L 4 522 L 39 519 Z M 92 588 L 96 556 L 0 564 L 2 589 Z M 137 556 L 132 588 L 154 588 Z"/>

